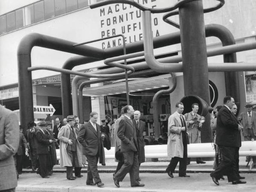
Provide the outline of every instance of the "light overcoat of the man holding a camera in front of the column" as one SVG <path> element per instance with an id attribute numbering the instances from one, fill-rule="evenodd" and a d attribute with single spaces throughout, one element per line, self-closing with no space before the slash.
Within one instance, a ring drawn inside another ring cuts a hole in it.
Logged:
<path id="1" fill-rule="evenodd" d="M 201 116 L 196 114 L 196 117 L 193 117 L 192 112 L 186 113 L 184 116 L 188 125 L 189 143 L 201 143 L 201 130 L 198 129 L 198 122 L 189 124 L 190 120 L 198 121 Z"/>

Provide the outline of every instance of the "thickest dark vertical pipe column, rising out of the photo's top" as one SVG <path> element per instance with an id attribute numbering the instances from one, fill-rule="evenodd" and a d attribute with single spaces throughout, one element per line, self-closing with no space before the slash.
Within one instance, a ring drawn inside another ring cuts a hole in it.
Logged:
<path id="1" fill-rule="evenodd" d="M 197 95 L 210 105 L 202 0 L 181 6 L 179 18 L 185 96 Z M 201 131 L 202 143 L 211 142 L 212 132 L 210 129 L 210 114 L 207 114 Z"/>

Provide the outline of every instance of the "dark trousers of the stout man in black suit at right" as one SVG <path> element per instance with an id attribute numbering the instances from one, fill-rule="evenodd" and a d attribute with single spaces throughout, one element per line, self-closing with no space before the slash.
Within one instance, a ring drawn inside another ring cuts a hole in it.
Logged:
<path id="1" fill-rule="evenodd" d="M 239 170 L 237 164 L 239 163 L 239 147 L 221 146 L 218 145 L 223 160 L 221 160 L 218 167 L 211 172 L 211 177 L 220 179 L 224 173 L 227 174 L 228 182 L 239 180 Z"/>

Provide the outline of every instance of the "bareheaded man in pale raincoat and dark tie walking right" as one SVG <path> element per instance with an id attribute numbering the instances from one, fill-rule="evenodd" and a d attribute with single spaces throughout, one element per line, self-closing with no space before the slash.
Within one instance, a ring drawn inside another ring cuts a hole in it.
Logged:
<path id="1" fill-rule="evenodd" d="M 181 102 L 176 103 L 176 112 L 168 118 L 168 141 L 167 141 L 167 154 L 172 158 L 166 172 L 173 178 L 173 172 L 179 165 L 179 177 L 190 177 L 186 175 L 187 166 L 187 144 L 188 133 L 185 117 L 182 115 L 184 105 Z"/>

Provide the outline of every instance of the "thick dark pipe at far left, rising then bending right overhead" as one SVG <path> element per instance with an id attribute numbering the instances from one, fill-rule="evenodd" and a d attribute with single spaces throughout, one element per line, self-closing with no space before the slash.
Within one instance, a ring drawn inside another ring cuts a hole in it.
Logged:
<path id="1" fill-rule="evenodd" d="M 18 84 L 20 125 L 26 130 L 27 123 L 34 121 L 32 75 L 27 69 L 31 67 L 31 50 L 34 46 L 40 46 L 58 51 L 104 58 L 104 50 L 90 46 L 73 47 L 74 42 L 50 37 L 47 35 L 32 33 L 22 38 L 17 49 Z"/>

